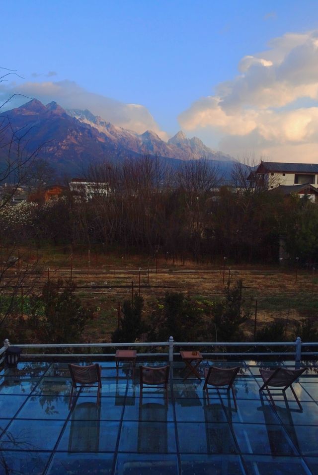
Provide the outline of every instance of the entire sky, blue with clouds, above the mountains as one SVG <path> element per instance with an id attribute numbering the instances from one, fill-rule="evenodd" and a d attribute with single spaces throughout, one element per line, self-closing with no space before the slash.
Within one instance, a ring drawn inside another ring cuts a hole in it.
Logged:
<path id="1" fill-rule="evenodd" d="M 116 125 L 137 132 L 151 128 L 162 138 L 183 129 L 238 156 L 268 152 L 276 159 L 293 149 L 295 156 L 302 150 L 313 160 L 318 77 L 315 81 L 316 70 L 307 70 L 299 59 L 290 66 L 290 57 L 307 46 L 302 55 L 309 56 L 308 64 L 318 59 L 312 48 L 318 36 L 317 0 L 15 0 L 0 3 L 0 16 L 0 66 L 23 76 L 0 84 L 1 100 L 21 91 L 64 107 L 87 105 Z M 274 61 L 266 59 L 270 51 Z M 247 66 L 246 57 L 253 58 Z M 261 60 L 257 65 L 255 58 Z M 299 87 L 293 79 L 297 68 L 309 79 L 293 95 L 287 89 Z M 275 81 L 261 84 L 269 70 Z M 242 94 L 248 88 L 255 89 L 253 99 Z M 260 103 L 255 97 L 264 88 L 265 95 L 272 88 L 274 99 Z M 294 136 L 285 131 L 282 142 L 273 130 L 278 122 L 295 123 L 288 109 L 298 111 L 296 122 L 301 118 L 301 126 L 306 123 L 310 130 L 295 130 Z"/>

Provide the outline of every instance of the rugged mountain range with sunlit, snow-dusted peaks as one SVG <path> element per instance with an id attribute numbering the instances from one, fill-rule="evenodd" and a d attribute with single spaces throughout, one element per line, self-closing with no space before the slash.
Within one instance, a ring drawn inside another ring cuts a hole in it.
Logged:
<path id="1" fill-rule="evenodd" d="M 137 134 L 116 127 L 88 110 L 65 110 L 56 102 L 44 105 L 32 99 L 0 114 L 0 121 L 10 123 L 10 130 L 17 136 L 26 133 L 25 143 L 30 151 L 41 146 L 38 156 L 59 174 L 74 176 L 83 173 L 94 161 L 144 154 L 157 155 L 173 166 L 178 166 L 181 160 L 214 160 L 222 171 L 233 162 L 229 155 L 208 148 L 197 137 L 189 139 L 181 131 L 165 142 L 152 131 Z"/>

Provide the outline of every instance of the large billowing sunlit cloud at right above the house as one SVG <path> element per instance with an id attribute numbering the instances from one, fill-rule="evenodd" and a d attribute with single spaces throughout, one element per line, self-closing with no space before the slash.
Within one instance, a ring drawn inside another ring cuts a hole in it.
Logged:
<path id="1" fill-rule="evenodd" d="M 181 127 L 218 131 L 219 148 L 235 155 L 252 151 L 273 160 L 317 161 L 318 31 L 288 33 L 269 46 L 242 58 L 240 74 L 219 84 L 215 96 L 180 114 Z"/>

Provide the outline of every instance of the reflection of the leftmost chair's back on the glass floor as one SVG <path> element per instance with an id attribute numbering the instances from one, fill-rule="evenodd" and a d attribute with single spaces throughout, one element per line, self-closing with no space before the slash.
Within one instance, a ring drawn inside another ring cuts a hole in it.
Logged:
<path id="1" fill-rule="evenodd" d="M 98 452 L 101 403 L 77 404 L 72 413 L 69 452 Z"/>

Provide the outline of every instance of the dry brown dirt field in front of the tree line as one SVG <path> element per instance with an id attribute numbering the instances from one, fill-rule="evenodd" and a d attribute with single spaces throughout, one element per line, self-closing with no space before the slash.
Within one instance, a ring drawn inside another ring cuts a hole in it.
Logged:
<path id="1" fill-rule="evenodd" d="M 22 251 L 21 251 L 22 256 Z M 88 262 L 89 258 L 89 262 Z M 223 298 L 225 288 L 243 281 L 243 296 L 250 306 L 251 319 L 245 331 L 254 331 L 257 300 L 257 328 L 274 319 L 286 322 L 286 328 L 302 317 L 316 317 L 318 311 L 318 275 L 315 270 L 286 270 L 277 267 L 229 267 L 173 262 L 170 259 L 148 259 L 138 256 L 116 256 L 94 253 L 69 255 L 33 252 L 28 262 L 37 262 L 41 274 L 36 284 L 40 291 L 47 278 L 62 277 L 77 284 L 77 293 L 95 308 L 96 318 L 87 330 L 87 341 L 108 341 L 117 326 L 118 304 L 139 292 L 149 311 L 153 302 L 166 291 L 183 292 L 192 297 Z M 25 264 L 21 257 L 19 266 Z M 149 266 L 149 270 L 148 270 Z"/>

